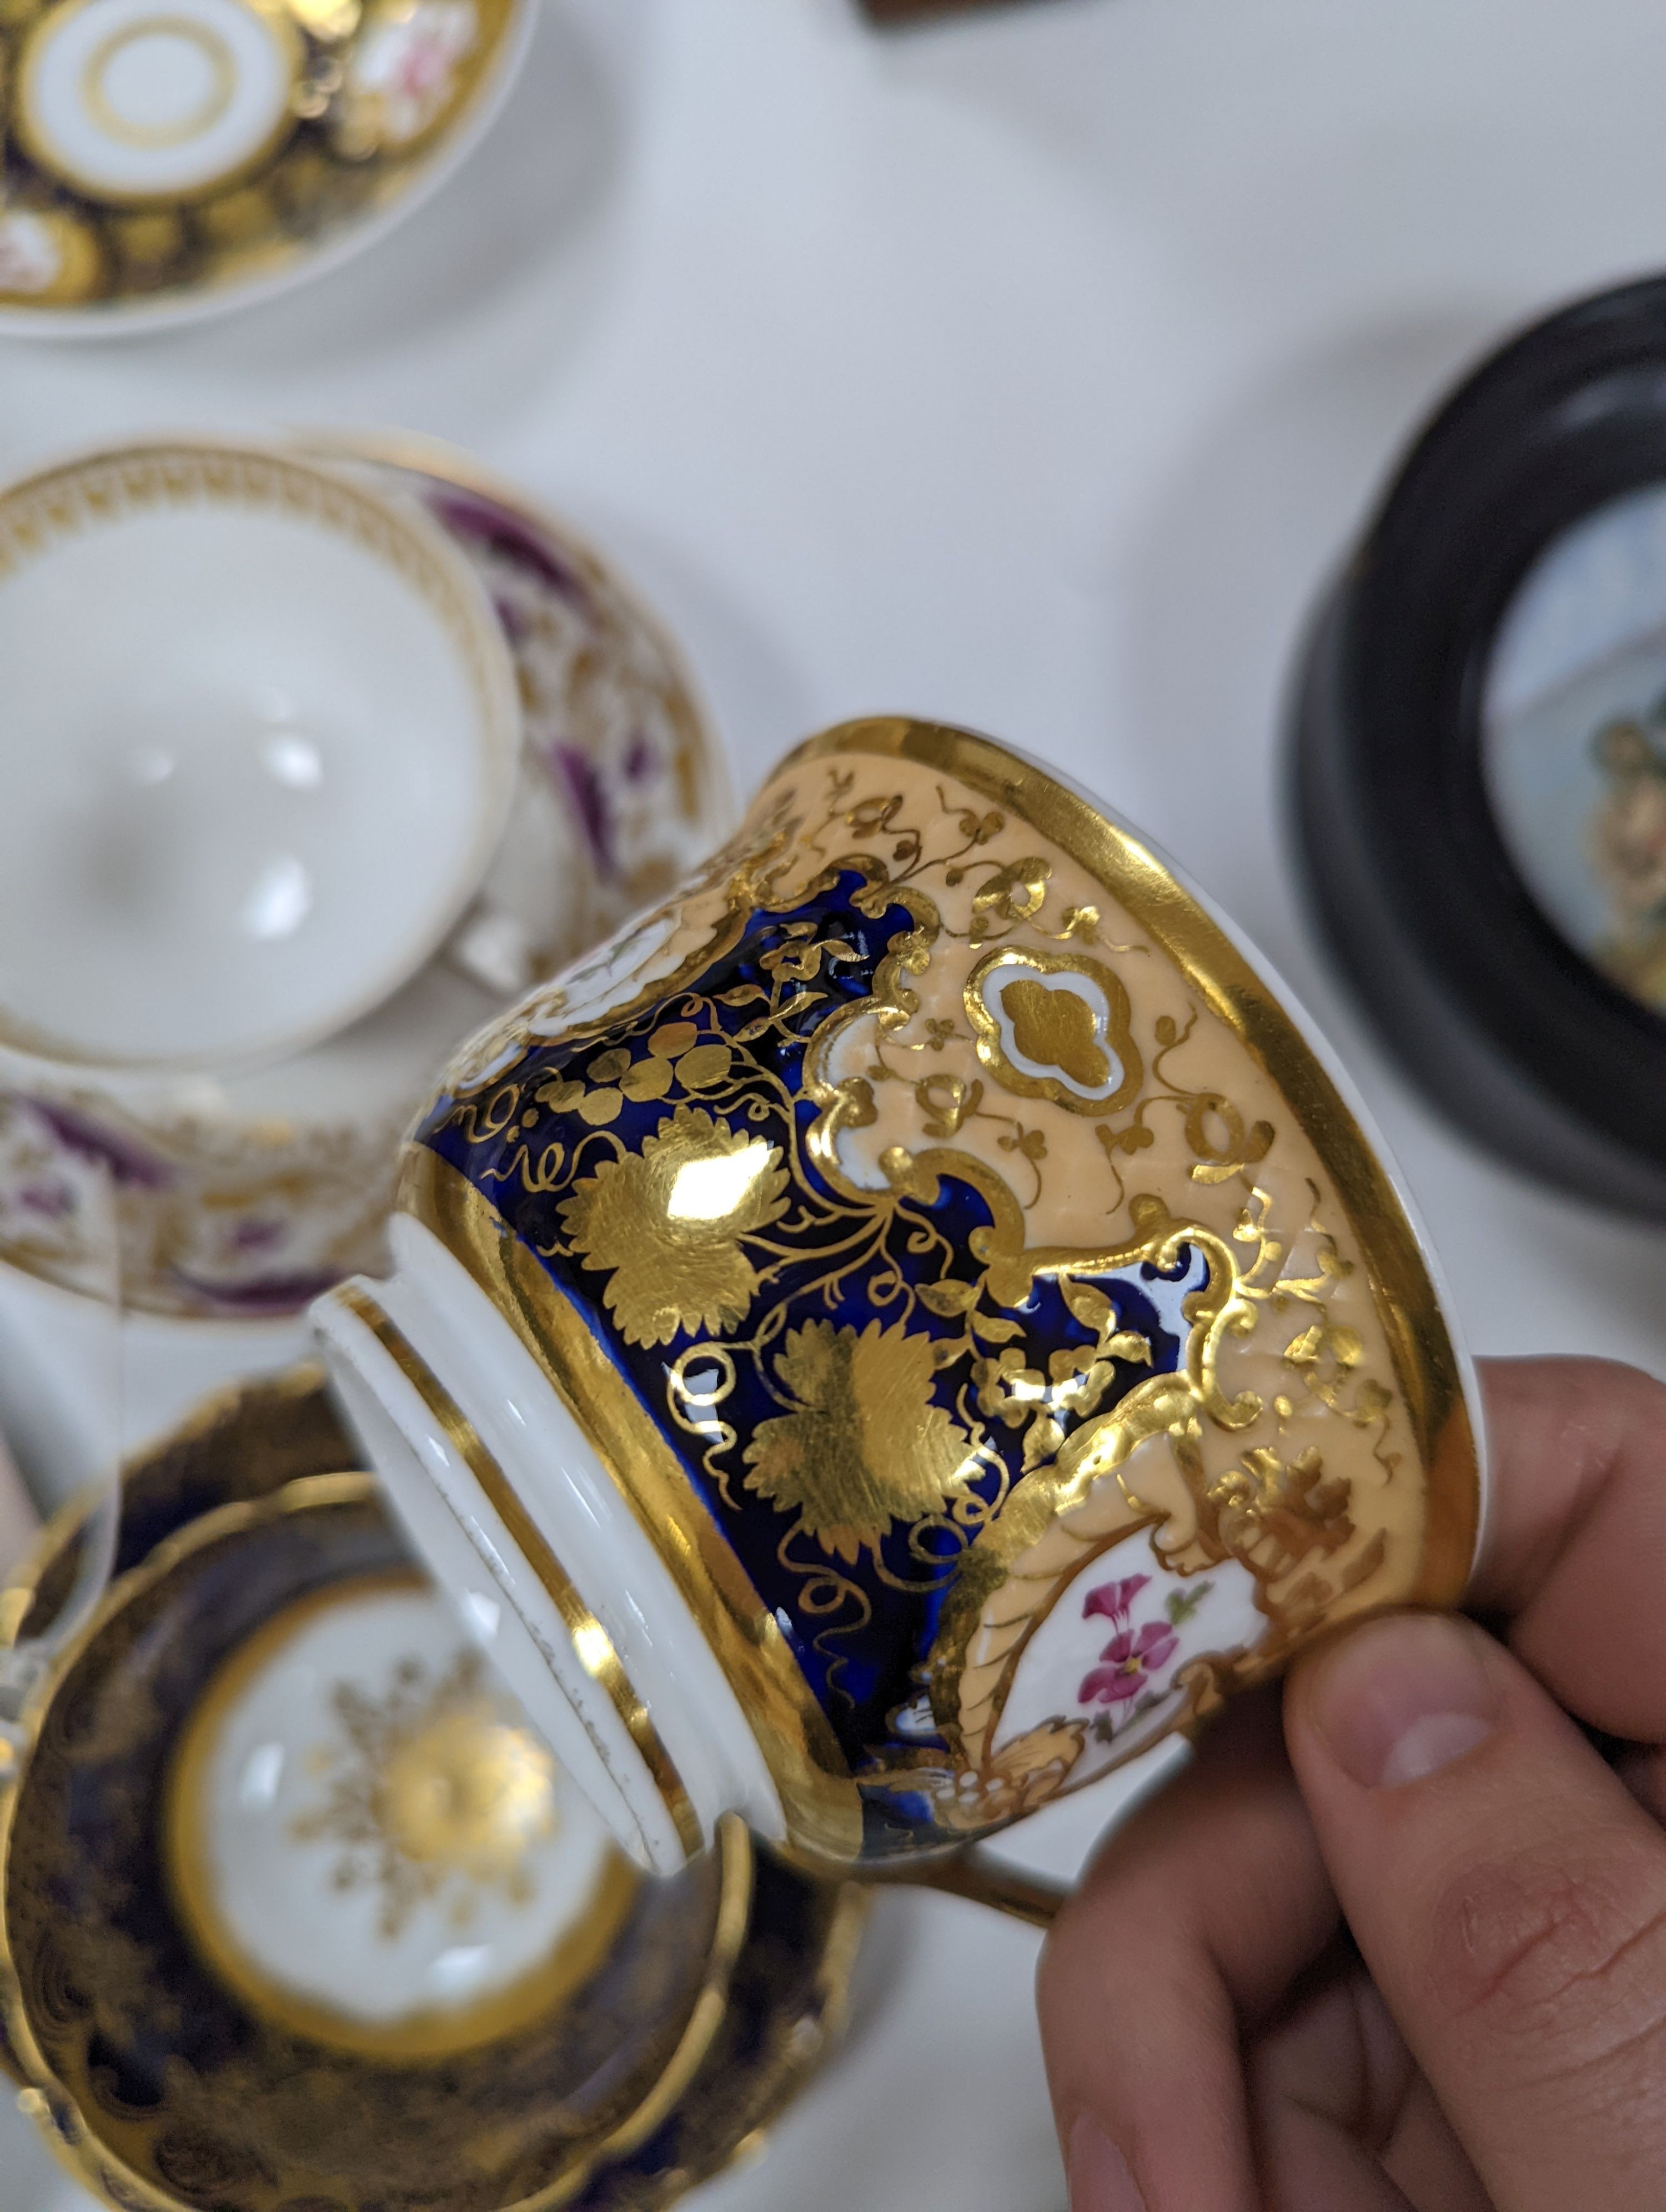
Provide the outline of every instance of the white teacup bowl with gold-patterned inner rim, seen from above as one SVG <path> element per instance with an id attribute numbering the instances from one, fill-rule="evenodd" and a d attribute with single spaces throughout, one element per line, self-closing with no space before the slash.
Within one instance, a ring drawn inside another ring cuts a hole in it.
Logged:
<path id="1" fill-rule="evenodd" d="M 513 670 L 409 502 L 164 440 L 0 495 L 0 1042 L 272 1060 L 438 949 L 509 818 Z"/>

